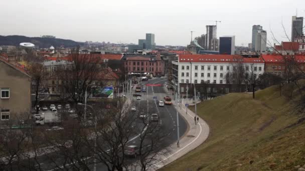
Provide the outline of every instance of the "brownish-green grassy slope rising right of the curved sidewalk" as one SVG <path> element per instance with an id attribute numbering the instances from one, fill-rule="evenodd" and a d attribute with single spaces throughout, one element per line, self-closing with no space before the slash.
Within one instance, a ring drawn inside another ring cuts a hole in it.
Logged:
<path id="1" fill-rule="evenodd" d="M 256 99 L 229 93 L 197 105 L 211 128 L 207 141 L 161 170 L 297 170 L 305 164 L 305 121 L 289 93 L 271 86 Z"/>

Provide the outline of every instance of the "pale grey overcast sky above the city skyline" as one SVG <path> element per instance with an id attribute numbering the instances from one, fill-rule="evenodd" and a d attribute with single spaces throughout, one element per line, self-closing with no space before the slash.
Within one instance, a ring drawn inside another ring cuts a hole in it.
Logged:
<path id="1" fill-rule="evenodd" d="M 158 45 L 187 45 L 218 23 L 217 36 L 235 35 L 235 44 L 251 42 L 260 24 L 285 39 L 291 16 L 305 16 L 305 0 L 3 0 L 1 35 L 55 35 L 76 41 L 137 43 L 146 32 Z"/>

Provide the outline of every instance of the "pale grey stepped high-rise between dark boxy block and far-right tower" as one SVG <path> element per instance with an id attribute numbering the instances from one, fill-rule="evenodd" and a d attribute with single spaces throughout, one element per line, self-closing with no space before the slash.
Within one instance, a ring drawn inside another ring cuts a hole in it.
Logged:
<path id="1" fill-rule="evenodd" d="M 260 25 L 252 26 L 252 50 L 264 52 L 267 50 L 267 32 Z"/>

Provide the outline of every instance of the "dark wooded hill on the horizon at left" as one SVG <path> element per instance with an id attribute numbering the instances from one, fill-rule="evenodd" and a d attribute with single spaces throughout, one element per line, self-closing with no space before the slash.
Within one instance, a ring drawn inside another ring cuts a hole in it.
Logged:
<path id="1" fill-rule="evenodd" d="M 38 45 L 39 48 L 46 48 L 53 45 L 54 47 L 64 45 L 65 47 L 75 47 L 83 45 L 84 42 L 77 42 L 61 38 L 42 38 L 42 37 L 27 37 L 23 35 L 0 35 L 0 45 L 16 45 L 19 46 L 21 42 L 31 42 Z"/>

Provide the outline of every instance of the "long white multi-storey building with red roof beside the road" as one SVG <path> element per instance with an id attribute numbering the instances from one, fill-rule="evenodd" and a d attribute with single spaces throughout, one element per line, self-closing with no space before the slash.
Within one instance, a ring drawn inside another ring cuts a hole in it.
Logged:
<path id="1" fill-rule="evenodd" d="M 264 61 L 262 58 L 246 58 L 240 55 L 227 54 L 182 54 L 178 61 L 172 61 L 177 65 L 177 79 L 181 84 L 181 91 L 184 92 L 183 84 L 186 83 L 210 83 L 229 84 L 226 74 L 236 69 L 241 63 L 245 70 L 259 76 L 264 72 Z M 197 86 L 197 85 L 196 85 Z"/>

